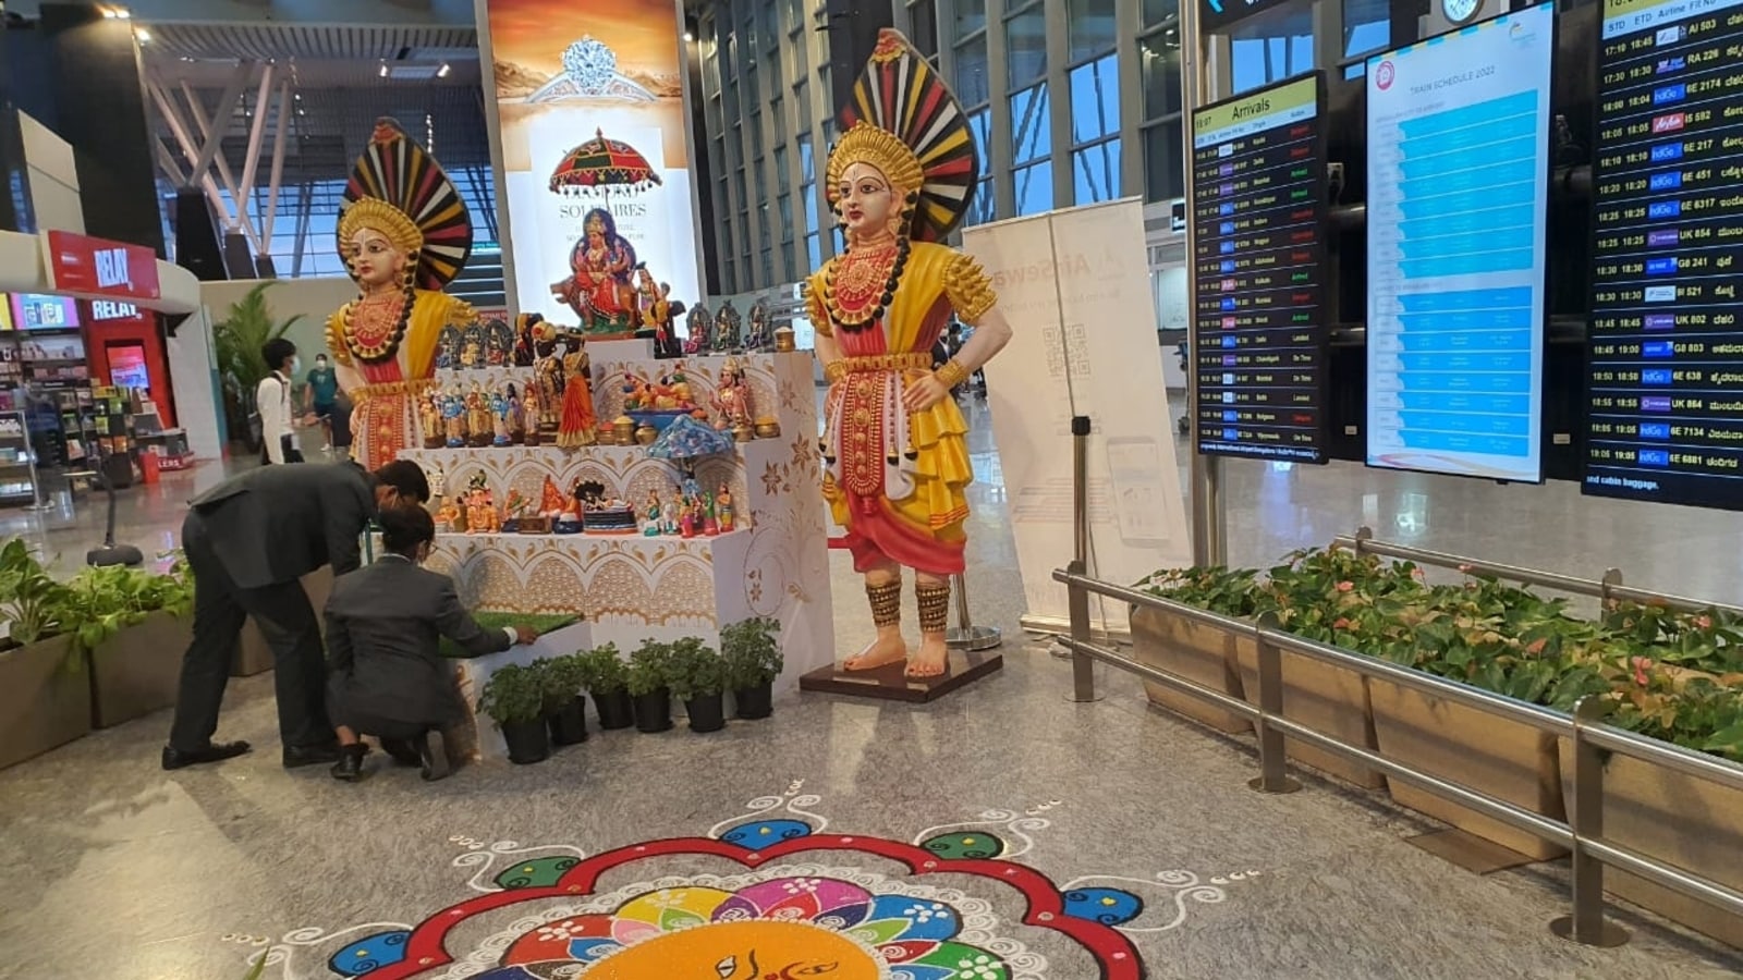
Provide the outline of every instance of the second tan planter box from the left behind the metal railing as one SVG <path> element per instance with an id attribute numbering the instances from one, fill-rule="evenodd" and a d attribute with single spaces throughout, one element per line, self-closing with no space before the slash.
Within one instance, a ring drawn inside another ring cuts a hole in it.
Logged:
<path id="1" fill-rule="evenodd" d="M 1246 701 L 1258 704 L 1258 649 L 1239 643 L 1241 689 Z M 1367 678 L 1356 671 L 1283 650 L 1283 717 L 1325 732 L 1339 741 L 1375 750 L 1373 711 L 1368 706 Z M 1285 738 L 1290 759 L 1297 759 L 1365 790 L 1386 786 L 1386 776 L 1321 748 Z"/>

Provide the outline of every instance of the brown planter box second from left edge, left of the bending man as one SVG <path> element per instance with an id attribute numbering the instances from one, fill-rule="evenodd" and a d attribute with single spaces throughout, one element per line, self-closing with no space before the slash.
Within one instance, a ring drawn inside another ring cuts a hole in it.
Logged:
<path id="1" fill-rule="evenodd" d="M 192 640 L 192 614 L 153 612 L 91 650 L 92 724 L 106 729 L 173 706 Z"/>

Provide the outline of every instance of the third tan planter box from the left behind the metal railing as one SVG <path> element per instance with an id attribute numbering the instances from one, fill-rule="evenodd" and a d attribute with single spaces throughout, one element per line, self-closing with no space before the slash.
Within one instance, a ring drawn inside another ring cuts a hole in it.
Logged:
<path id="1" fill-rule="evenodd" d="M 1555 736 L 1380 678 L 1368 678 L 1368 699 L 1373 704 L 1373 734 L 1386 757 L 1522 809 L 1565 820 Z M 1529 858 L 1551 860 L 1567 853 L 1400 779 L 1389 786 L 1400 804 Z"/>

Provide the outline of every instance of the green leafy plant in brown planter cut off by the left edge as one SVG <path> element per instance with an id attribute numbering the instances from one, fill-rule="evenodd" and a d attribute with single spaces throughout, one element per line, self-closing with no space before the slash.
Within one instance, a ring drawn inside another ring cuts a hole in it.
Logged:
<path id="1" fill-rule="evenodd" d="M 91 732 L 91 680 L 73 650 L 70 591 L 23 539 L 0 548 L 0 769 Z"/>

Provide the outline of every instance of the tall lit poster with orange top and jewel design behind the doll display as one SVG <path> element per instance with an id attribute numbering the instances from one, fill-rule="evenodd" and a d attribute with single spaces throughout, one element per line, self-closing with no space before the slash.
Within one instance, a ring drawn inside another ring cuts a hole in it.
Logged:
<path id="1" fill-rule="evenodd" d="M 676 0 L 478 0 L 516 312 L 594 335 L 701 298 Z"/>

